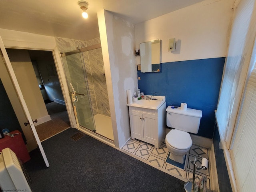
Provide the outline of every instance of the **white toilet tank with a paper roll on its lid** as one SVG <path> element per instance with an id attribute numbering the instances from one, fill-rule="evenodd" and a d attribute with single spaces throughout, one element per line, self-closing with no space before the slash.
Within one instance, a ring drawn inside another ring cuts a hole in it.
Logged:
<path id="1" fill-rule="evenodd" d="M 180 107 L 172 109 L 171 106 L 166 108 L 166 125 L 174 129 L 198 133 L 201 117 L 201 110 L 181 110 Z"/>

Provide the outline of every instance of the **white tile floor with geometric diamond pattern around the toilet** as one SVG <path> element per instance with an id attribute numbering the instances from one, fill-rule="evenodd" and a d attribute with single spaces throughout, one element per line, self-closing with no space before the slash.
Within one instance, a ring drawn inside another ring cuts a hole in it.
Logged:
<path id="1" fill-rule="evenodd" d="M 203 158 L 207 158 L 209 160 L 208 149 L 196 145 L 192 145 L 190 148 L 189 154 L 186 156 L 184 169 L 166 162 L 167 158 L 169 158 L 170 152 L 166 148 L 166 144 L 164 144 L 164 142 L 159 149 L 156 149 L 153 145 L 146 142 L 130 139 L 122 147 L 121 150 L 126 152 L 126 154 L 136 157 L 139 160 L 146 160 L 148 164 L 154 164 L 154 166 L 158 166 L 160 170 L 163 170 L 172 176 L 177 176 L 177 178 L 182 177 L 191 182 L 193 177 L 193 165 L 195 156 L 202 156 Z M 200 165 L 200 163 L 201 159 L 198 158 L 197 165 Z M 207 188 L 211 189 L 210 167 L 207 170 L 196 168 L 196 182 L 202 178 L 203 174 L 207 175 Z"/>

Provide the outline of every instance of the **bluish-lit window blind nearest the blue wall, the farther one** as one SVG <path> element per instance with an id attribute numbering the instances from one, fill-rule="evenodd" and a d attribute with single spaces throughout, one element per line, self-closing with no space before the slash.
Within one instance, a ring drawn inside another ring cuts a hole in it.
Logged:
<path id="1" fill-rule="evenodd" d="M 225 142 L 230 116 L 244 62 L 244 46 L 254 8 L 254 0 L 240 0 L 234 14 L 228 57 L 226 59 L 222 87 L 216 112 L 220 139 Z"/>

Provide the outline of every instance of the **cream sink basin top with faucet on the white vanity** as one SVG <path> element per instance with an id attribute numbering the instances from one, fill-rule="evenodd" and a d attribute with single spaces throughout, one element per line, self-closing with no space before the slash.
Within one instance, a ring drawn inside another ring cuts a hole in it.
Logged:
<path id="1" fill-rule="evenodd" d="M 127 104 L 127 106 L 158 109 L 165 102 L 165 96 L 152 96 L 152 98 L 152 100 L 146 100 L 146 96 L 144 96 L 144 99 L 132 102 L 132 104 Z"/>

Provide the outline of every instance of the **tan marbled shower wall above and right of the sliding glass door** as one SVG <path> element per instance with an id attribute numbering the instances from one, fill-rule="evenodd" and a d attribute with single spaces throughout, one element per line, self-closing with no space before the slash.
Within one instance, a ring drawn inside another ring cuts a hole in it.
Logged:
<path id="1" fill-rule="evenodd" d="M 80 45 L 82 48 L 84 48 L 100 43 L 99 37 L 87 42 L 59 37 L 56 37 L 55 40 L 60 51 L 75 45 Z M 83 58 L 86 67 L 86 76 L 88 80 L 93 113 L 94 115 L 102 114 L 110 117 L 106 78 L 103 74 L 104 64 L 102 50 L 101 48 L 98 48 L 83 52 Z"/>

